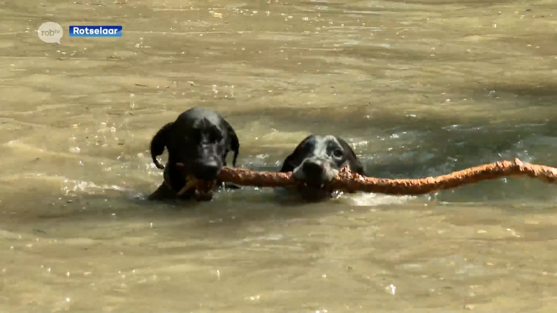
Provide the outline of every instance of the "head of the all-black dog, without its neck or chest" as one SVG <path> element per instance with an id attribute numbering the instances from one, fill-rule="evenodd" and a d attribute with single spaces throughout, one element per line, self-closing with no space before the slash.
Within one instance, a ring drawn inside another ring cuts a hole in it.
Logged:
<path id="1" fill-rule="evenodd" d="M 226 156 L 234 151 L 232 166 L 240 150 L 238 136 L 222 116 L 194 107 L 164 125 L 151 141 L 151 156 L 157 168 L 164 169 L 157 156 L 168 150 L 168 164 L 182 163 L 184 170 L 201 180 L 216 180 Z"/>

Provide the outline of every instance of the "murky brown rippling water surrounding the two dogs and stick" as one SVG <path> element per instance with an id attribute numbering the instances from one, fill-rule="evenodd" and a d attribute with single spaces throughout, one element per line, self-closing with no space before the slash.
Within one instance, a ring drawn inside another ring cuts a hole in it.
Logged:
<path id="1" fill-rule="evenodd" d="M 555 186 L 312 205 L 252 188 L 180 208 L 143 198 L 162 179 L 151 136 L 195 105 L 231 122 L 242 167 L 277 169 L 309 133 L 343 136 L 375 177 L 555 166 L 555 10 L 4 1 L 0 310 L 553 312 Z M 36 35 L 45 21 L 123 25 L 124 37 L 50 45 Z"/>

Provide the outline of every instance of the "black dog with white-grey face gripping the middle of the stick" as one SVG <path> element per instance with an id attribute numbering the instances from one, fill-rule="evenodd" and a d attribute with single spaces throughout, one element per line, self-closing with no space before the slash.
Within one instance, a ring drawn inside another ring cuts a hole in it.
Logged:
<path id="1" fill-rule="evenodd" d="M 302 198 L 321 200 L 332 194 L 323 187 L 331 182 L 346 165 L 353 173 L 364 175 L 364 167 L 354 150 L 337 136 L 310 135 L 286 157 L 280 172 L 293 172 L 295 178 L 304 182 L 300 187 Z"/>

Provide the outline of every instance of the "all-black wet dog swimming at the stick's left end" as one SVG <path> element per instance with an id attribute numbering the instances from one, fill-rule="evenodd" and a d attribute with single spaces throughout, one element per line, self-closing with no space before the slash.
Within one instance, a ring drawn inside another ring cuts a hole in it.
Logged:
<path id="1" fill-rule="evenodd" d="M 166 167 L 161 165 L 157 156 L 163 154 L 164 147 L 168 150 Z M 164 125 L 151 140 L 151 156 L 159 169 L 164 169 L 164 182 L 151 195 L 150 200 L 168 198 L 190 198 L 194 188 L 187 189 L 194 179 L 217 181 L 226 156 L 234 151 L 232 166 L 236 166 L 236 158 L 240 150 L 238 136 L 230 124 L 222 116 L 193 107 L 184 111 L 178 118 Z M 189 175 L 188 179 L 186 175 Z M 188 183 L 189 182 L 189 183 Z"/>

